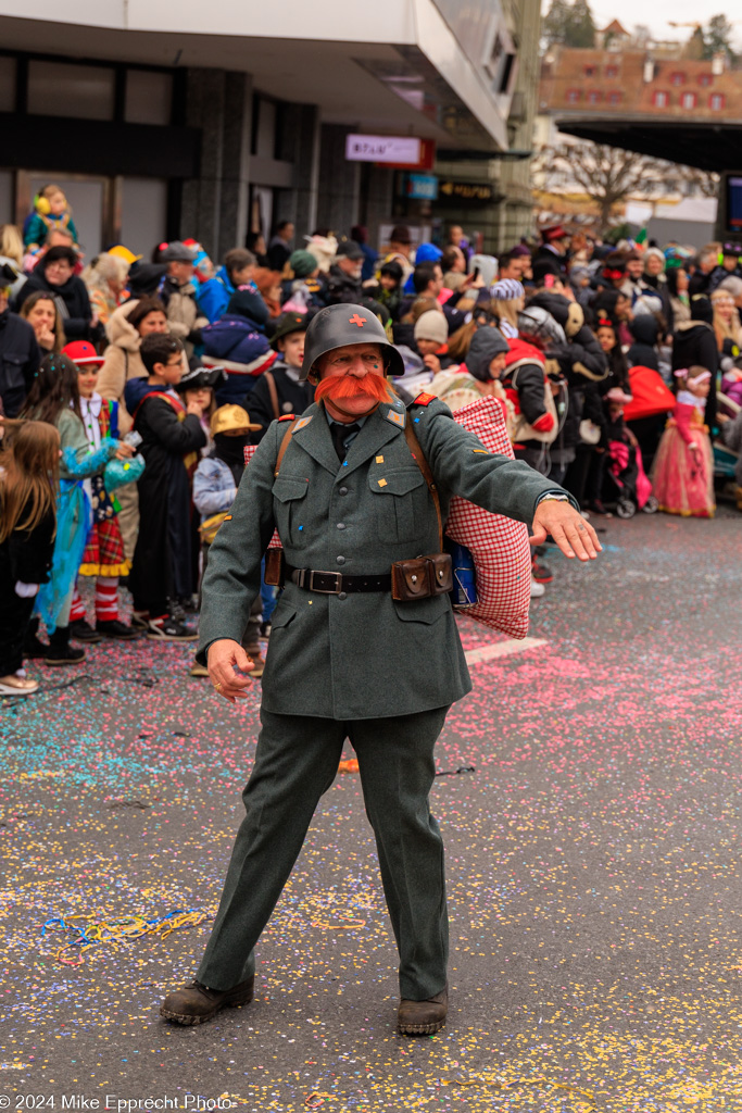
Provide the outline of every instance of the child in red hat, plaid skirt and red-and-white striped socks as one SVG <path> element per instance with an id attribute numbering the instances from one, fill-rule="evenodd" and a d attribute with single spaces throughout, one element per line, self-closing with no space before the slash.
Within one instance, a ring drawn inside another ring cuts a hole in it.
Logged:
<path id="1" fill-rule="evenodd" d="M 62 349 L 62 354 L 69 356 L 78 368 L 82 424 L 90 452 L 96 452 L 106 437 L 118 440 L 119 435 L 118 403 L 105 401 L 96 391 L 103 357 L 98 355 L 88 341 L 73 341 Z M 88 482 L 92 524 L 82 554 L 80 575 L 97 578 L 96 626 L 93 628 L 88 622 L 85 603 L 76 584 L 70 609 L 71 634 L 78 641 L 89 642 L 100 641 L 103 636 L 130 640 L 138 636 L 137 631 L 119 619 L 119 577 L 129 574 L 131 562 L 123 552 L 118 524 L 118 502 L 106 490 L 101 472 L 92 475 Z"/>

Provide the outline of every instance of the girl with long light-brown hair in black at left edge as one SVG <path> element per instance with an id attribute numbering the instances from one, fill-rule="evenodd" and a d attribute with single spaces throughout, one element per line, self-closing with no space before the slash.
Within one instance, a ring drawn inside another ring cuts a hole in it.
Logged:
<path id="1" fill-rule="evenodd" d="M 49 579 L 57 525 L 59 433 L 40 421 L 4 422 L 0 457 L 0 696 L 30 696 L 23 639 Z"/>

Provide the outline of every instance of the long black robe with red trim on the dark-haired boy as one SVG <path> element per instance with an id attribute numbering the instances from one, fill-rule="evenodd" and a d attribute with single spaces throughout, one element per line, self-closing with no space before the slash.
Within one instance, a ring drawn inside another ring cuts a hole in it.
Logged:
<path id="1" fill-rule="evenodd" d="M 139 489 L 139 536 L 129 573 L 135 601 L 144 609 L 192 593 L 190 483 L 186 457 L 206 444 L 206 433 L 182 403 L 158 394 L 166 388 L 146 378 L 130 378 L 123 396 L 133 427 L 141 435 L 139 452 L 146 467 Z M 154 394 L 154 397 L 146 397 Z"/>

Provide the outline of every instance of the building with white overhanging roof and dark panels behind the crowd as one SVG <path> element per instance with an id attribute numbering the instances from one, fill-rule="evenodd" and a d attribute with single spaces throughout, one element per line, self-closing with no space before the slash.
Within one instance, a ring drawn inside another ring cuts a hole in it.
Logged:
<path id="1" fill-rule="evenodd" d="M 514 26 L 498 0 L 30 0 L 22 18 L 0 0 L 0 223 L 57 181 L 88 257 L 192 236 L 219 258 L 280 219 L 299 234 L 364 224 L 378 243 L 406 207 L 403 176 L 435 175 L 348 160 L 348 135 L 414 137 L 488 180 L 488 156 L 520 141 L 531 62 Z M 458 219 L 439 196 L 410 223 Z"/>

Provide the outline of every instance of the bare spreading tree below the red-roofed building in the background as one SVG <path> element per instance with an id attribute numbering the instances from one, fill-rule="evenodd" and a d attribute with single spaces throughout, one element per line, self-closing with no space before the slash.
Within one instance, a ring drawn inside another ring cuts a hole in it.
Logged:
<path id="1" fill-rule="evenodd" d="M 637 151 L 622 150 L 594 142 L 557 142 L 545 147 L 533 162 L 547 193 L 584 193 L 600 211 L 601 229 L 612 226 L 614 209 L 629 197 L 643 199 L 685 191 L 681 183 L 693 184 L 687 193 L 713 196 L 711 175 L 686 166 L 676 166 Z"/>

